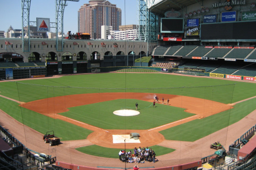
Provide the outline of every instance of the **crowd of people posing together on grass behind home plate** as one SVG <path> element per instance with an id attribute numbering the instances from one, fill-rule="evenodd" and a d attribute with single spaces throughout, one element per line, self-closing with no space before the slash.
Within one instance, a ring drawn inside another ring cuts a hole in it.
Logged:
<path id="1" fill-rule="evenodd" d="M 152 150 L 152 148 L 141 148 L 138 149 L 135 147 L 133 152 L 130 150 L 126 152 L 125 150 L 121 150 L 119 152 L 119 159 L 124 162 L 129 163 L 145 163 L 145 161 L 156 162 L 156 153 Z"/>

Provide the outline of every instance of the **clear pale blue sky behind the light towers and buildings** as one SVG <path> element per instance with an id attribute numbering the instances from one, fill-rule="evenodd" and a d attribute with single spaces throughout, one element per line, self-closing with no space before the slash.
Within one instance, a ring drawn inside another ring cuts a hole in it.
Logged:
<path id="1" fill-rule="evenodd" d="M 13 29 L 22 29 L 22 0 L 1 0 L 0 5 L 0 31 L 7 32 L 9 26 Z M 122 25 L 137 24 L 137 0 L 108 0 L 111 4 L 116 4 L 122 10 Z M 78 10 L 83 4 L 88 4 L 89 0 L 79 0 L 78 2 L 67 1 L 64 10 L 64 33 L 78 32 Z M 56 22 L 56 0 L 31 0 L 30 21 L 36 21 L 37 17 L 50 18 L 50 22 Z M 51 29 L 55 32 L 55 29 Z"/>

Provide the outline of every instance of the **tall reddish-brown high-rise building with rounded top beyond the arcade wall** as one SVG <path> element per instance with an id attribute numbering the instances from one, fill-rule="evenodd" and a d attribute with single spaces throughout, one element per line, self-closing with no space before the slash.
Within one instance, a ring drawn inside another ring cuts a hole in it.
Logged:
<path id="1" fill-rule="evenodd" d="M 107 0 L 89 0 L 78 11 L 78 32 L 91 34 L 92 39 L 101 38 L 101 26 L 121 26 L 121 9 Z"/>

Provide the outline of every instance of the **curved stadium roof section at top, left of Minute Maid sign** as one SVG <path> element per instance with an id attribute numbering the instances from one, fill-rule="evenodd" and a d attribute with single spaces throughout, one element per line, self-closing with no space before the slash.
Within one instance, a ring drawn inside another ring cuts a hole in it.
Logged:
<path id="1" fill-rule="evenodd" d="M 163 17 L 166 11 L 179 11 L 187 6 L 198 3 L 203 8 L 203 0 L 152 0 L 152 5 L 149 6 L 151 13 Z"/>

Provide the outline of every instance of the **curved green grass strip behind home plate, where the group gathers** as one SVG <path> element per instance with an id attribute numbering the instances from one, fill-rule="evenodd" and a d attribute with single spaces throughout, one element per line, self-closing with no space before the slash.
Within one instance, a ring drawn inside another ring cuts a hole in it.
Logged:
<path id="1" fill-rule="evenodd" d="M 143 148 L 144 146 L 142 146 Z M 139 148 L 139 147 L 137 147 Z M 146 146 L 145 146 L 146 148 Z M 150 146 L 148 148 L 152 148 L 152 150 L 155 151 L 156 153 L 156 157 L 160 156 L 160 155 L 164 155 L 167 153 L 171 153 L 174 152 L 175 149 L 171 149 L 171 148 L 166 148 L 166 147 L 162 147 L 162 146 L 158 146 L 158 145 L 154 145 L 154 146 Z M 124 148 L 120 148 L 120 149 L 113 149 L 113 148 L 104 148 L 98 145 L 91 145 L 91 146 L 85 146 L 85 147 L 81 147 L 81 148 L 76 148 L 76 150 L 82 152 L 82 153 L 87 153 L 89 155 L 94 155 L 94 156 L 98 156 L 98 157 L 110 157 L 110 158 L 119 158 L 119 151 Z M 126 151 L 132 151 L 134 148 L 126 148 Z"/>

